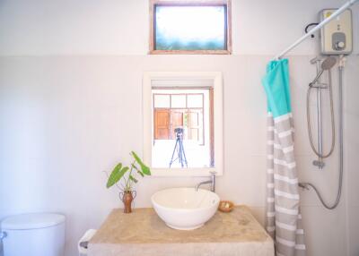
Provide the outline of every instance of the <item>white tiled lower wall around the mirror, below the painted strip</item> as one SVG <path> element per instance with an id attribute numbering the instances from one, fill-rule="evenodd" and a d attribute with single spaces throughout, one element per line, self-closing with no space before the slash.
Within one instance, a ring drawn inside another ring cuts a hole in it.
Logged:
<path id="1" fill-rule="evenodd" d="M 118 192 L 105 188 L 102 171 L 126 160 L 129 150 L 142 150 L 142 73 L 221 71 L 224 175 L 218 178 L 217 192 L 223 199 L 249 205 L 263 224 L 267 103 L 260 78 L 269 59 L 252 55 L 0 58 L 0 115 L 5 121 L 0 128 L 0 218 L 23 211 L 64 212 L 66 255 L 75 255 L 76 240 L 83 232 L 98 227 L 110 209 L 120 206 Z M 316 183 L 324 198 L 332 201 L 337 153 L 325 170 L 311 166 L 314 158 L 305 119 L 306 88 L 315 75 L 310 59 L 290 57 L 299 175 L 302 181 Z M 347 132 L 353 142 L 355 127 L 358 124 Z M 356 147 L 352 144 L 352 155 Z M 349 190 L 355 190 L 354 178 Z M 194 186 L 199 180 L 146 178 L 137 187 L 136 207 L 150 206 L 150 195 L 156 190 Z M 358 204 L 351 205 L 349 220 L 354 220 Z M 312 191 L 302 192 L 302 216 L 309 256 L 346 255 L 345 200 L 328 211 Z M 350 244 L 355 243 L 355 232 L 350 229 Z"/>

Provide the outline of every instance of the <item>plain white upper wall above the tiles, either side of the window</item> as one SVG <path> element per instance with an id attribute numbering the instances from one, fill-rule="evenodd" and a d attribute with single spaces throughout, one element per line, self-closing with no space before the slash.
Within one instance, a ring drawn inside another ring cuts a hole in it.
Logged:
<path id="1" fill-rule="evenodd" d="M 0 1 L 0 55 L 145 55 L 147 0 Z M 232 0 L 234 54 L 276 55 L 346 0 Z M 355 10 L 359 10 L 356 6 Z M 355 17 L 358 30 L 359 17 Z M 355 44 L 358 42 L 355 35 Z M 309 39 L 293 54 L 317 53 Z M 356 49 L 358 53 L 359 50 Z"/>

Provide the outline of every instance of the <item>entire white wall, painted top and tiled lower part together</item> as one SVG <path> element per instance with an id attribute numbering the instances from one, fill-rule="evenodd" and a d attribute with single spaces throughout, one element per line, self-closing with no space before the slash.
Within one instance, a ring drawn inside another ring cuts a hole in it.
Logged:
<path id="1" fill-rule="evenodd" d="M 144 126 L 151 127 L 151 120 L 144 118 L 146 73 L 220 73 L 222 98 L 215 109 L 222 108 L 218 114 L 222 122 L 215 121 L 215 131 L 222 132 L 215 134 L 220 141 L 215 143 L 215 156 L 221 157 L 221 165 L 215 193 L 223 201 L 248 206 L 266 229 L 267 95 L 262 79 L 267 64 L 301 38 L 308 24 L 320 22 L 320 11 L 347 1 L 230 2 L 231 53 L 188 55 L 151 53 L 153 1 L 0 1 L 0 221 L 25 213 L 62 214 L 64 255 L 78 255 L 83 234 L 100 229 L 112 209 L 123 208 L 118 190 L 106 188 L 107 174 L 118 162 L 129 163 L 132 150 L 145 160 Z M 313 189 L 299 188 L 308 256 L 359 255 L 359 4 L 350 9 L 353 51 L 346 55 L 343 73 L 342 194 L 337 208 L 329 210 Z M 317 75 L 311 60 L 327 57 L 320 55 L 319 31 L 313 35 L 284 56 L 289 64 L 294 156 L 299 182 L 314 183 L 331 204 L 338 190 L 339 136 L 332 156 L 320 169 L 312 164 L 317 158 L 307 127 L 308 85 Z M 338 64 L 337 60 L 331 69 L 336 132 Z M 323 81 L 327 76 L 325 71 Z M 328 90 L 322 99 L 327 152 Z M 314 141 L 318 136 L 315 100 L 313 93 Z M 207 179 L 207 173 L 188 172 L 141 178 L 129 215 L 152 208 L 155 192 L 194 188 Z M 209 185 L 201 189 L 209 190 Z"/>

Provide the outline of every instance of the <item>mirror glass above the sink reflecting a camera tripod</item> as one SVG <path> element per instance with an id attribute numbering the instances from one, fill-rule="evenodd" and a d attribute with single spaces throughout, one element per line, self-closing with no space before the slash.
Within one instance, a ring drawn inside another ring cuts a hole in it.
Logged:
<path id="1" fill-rule="evenodd" d="M 184 167 L 214 166 L 214 137 L 211 127 L 215 124 L 213 116 L 210 115 L 210 109 L 213 107 L 213 101 L 209 99 L 210 90 L 187 87 L 188 81 L 197 84 L 197 81 L 193 80 L 174 77 L 169 81 L 176 82 L 162 81 L 161 85 L 165 87 L 159 86 L 152 90 L 155 98 L 162 99 L 153 104 L 155 107 L 162 103 L 162 108 L 153 108 L 152 166 L 180 168 L 178 150 L 183 150 L 186 155 L 187 166 Z M 163 100 L 165 97 L 171 97 L 171 108 L 164 107 L 169 103 Z M 179 133 L 180 130 L 176 130 L 178 128 L 181 128 L 182 132 Z M 181 146 L 178 140 L 182 142 Z M 177 152 L 174 155 L 173 150 Z"/>

